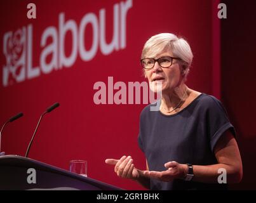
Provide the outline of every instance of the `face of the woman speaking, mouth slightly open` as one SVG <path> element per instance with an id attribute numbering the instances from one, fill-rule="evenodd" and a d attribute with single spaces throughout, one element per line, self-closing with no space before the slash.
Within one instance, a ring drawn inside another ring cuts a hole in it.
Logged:
<path id="1" fill-rule="evenodd" d="M 173 56 L 172 51 L 163 51 L 154 59 L 158 59 L 163 56 Z M 145 76 L 149 80 L 149 87 L 151 88 L 151 91 L 169 93 L 179 86 L 184 77 L 184 75 L 181 74 L 182 65 L 179 62 L 179 60 L 173 59 L 172 65 L 168 68 L 163 68 L 158 64 L 158 62 L 156 62 L 152 69 L 145 70 Z"/>

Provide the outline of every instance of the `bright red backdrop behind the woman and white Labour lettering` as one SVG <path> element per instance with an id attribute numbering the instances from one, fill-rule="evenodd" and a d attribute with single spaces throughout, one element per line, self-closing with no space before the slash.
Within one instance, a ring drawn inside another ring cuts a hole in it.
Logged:
<path id="1" fill-rule="evenodd" d="M 28 19 L 29 1 L 1 1 L 1 68 L 6 64 L 3 55 L 4 33 L 15 32 L 23 26 L 32 24 L 32 65 L 38 66 L 43 31 L 50 26 L 55 26 L 58 30 L 58 15 L 62 12 L 65 13 L 65 22 L 72 19 L 79 26 L 86 13 L 93 12 L 98 17 L 100 9 L 104 8 L 109 43 L 112 39 L 113 6 L 120 2 L 121 0 L 34 1 L 37 18 Z M 112 51 L 110 55 L 105 56 L 98 47 L 97 54 L 89 62 L 81 60 L 78 53 L 72 67 L 53 70 L 50 74 L 41 73 L 39 77 L 26 79 L 24 82 L 7 87 L 0 85 L 0 123 L 4 123 L 17 112 L 24 112 L 24 117 L 4 129 L 2 150 L 6 154 L 24 155 L 36 128 L 37 119 L 47 107 L 59 102 L 60 107 L 46 115 L 41 122 L 29 157 L 64 169 L 68 169 L 71 159 L 85 159 L 88 160 L 90 178 L 128 190 L 142 189 L 133 181 L 118 178 L 113 167 L 107 166 L 104 160 L 131 155 L 135 166 L 145 169 L 144 154 L 137 145 L 139 115 L 145 105 L 95 105 L 93 95 L 97 91 L 93 90 L 93 84 L 98 81 L 107 84 L 107 77 L 110 76 L 114 77 L 114 82 L 123 81 L 126 84 L 129 81 L 145 81 L 139 63 L 142 47 L 149 37 L 160 32 L 172 32 L 178 36 L 184 36 L 191 45 L 194 60 L 187 81 L 190 88 L 217 98 L 224 97 L 225 107 L 230 104 L 228 100 L 237 98 L 234 91 L 228 91 L 228 87 L 232 89 L 234 84 L 232 77 L 226 80 L 225 76 L 227 67 L 231 69 L 231 65 L 223 62 L 226 55 L 222 50 L 226 52 L 229 48 L 223 47 L 224 43 L 220 46 L 220 38 L 222 37 L 222 42 L 225 36 L 220 32 L 222 22 L 217 18 L 219 1 L 133 0 L 132 2 L 133 6 L 126 17 L 125 49 Z M 227 20 L 229 17 L 226 23 Z M 231 23 L 226 25 L 226 32 L 231 32 L 227 29 L 228 26 L 232 27 Z M 88 36 L 85 39 L 86 47 L 90 47 L 91 28 L 88 27 L 85 33 L 85 36 Z M 232 36 L 229 36 L 231 44 L 227 46 L 232 45 L 232 39 Z M 226 42 L 225 39 L 224 41 Z M 71 44 L 71 33 L 68 32 L 65 37 L 67 56 L 71 53 Z M 236 74 L 239 75 L 239 72 Z M 2 79 L 2 71 L 0 71 L 0 78 Z M 242 76 L 241 80 L 246 81 L 246 77 Z M 242 101 L 236 102 L 238 107 L 232 108 L 233 106 L 230 105 L 227 108 L 230 117 L 242 114 L 239 113 L 239 107 L 241 107 L 239 102 Z M 243 126 L 243 119 L 252 119 L 248 114 L 241 116 L 242 121 L 231 118 L 231 121 L 236 124 L 235 127 L 239 126 L 239 129 Z M 246 140 L 248 136 L 252 138 L 255 133 L 253 135 L 243 133 L 242 130 L 238 131 L 238 140 Z M 242 151 L 243 148 L 241 148 Z M 246 157 L 247 155 L 243 154 L 245 160 Z M 246 181 L 250 182 L 249 179 L 244 179 L 244 184 L 241 184 L 243 187 L 240 188 L 246 188 Z M 252 183 L 249 185 L 253 187 Z"/>

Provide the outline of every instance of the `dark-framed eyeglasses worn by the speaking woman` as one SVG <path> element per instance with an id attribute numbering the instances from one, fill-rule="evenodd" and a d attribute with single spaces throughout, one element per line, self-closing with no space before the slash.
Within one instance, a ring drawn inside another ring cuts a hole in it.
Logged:
<path id="1" fill-rule="evenodd" d="M 158 62 L 158 64 L 162 67 L 162 68 L 168 68 L 172 65 L 172 61 L 173 59 L 177 59 L 177 60 L 181 60 L 180 58 L 177 57 L 172 57 L 172 56 L 163 56 L 161 58 L 158 59 L 154 59 L 154 58 L 142 58 L 142 60 L 140 60 L 140 63 L 142 65 L 142 67 L 144 69 L 152 69 L 154 67 L 154 64 L 156 62 Z"/>

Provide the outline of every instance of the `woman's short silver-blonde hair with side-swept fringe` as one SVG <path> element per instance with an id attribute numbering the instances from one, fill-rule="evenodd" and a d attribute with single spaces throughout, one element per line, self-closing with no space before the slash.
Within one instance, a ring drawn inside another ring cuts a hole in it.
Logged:
<path id="1" fill-rule="evenodd" d="M 184 62 L 182 67 L 184 75 L 187 77 L 189 68 L 191 67 L 193 54 L 189 43 L 182 37 L 175 36 L 175 34 L 161 33 L 152 36 L 145 43 L 141 58 L 154 58 L 166 49 L 171 49 L 174 57 L 178 57 Z"/>

